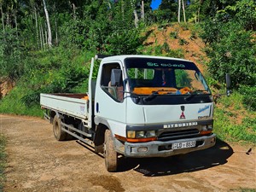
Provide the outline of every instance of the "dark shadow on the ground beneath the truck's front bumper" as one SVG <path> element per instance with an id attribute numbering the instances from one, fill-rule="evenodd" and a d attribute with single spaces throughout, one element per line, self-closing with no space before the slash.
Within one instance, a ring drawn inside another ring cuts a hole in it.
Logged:
<path id="1" fill-rule="evenodd" d="M 228 143 L 217 140 L 212 148 L 167 158 L 131 159 L 119 158 L 119 172 L 133 169 L 147 177 L 173 175 L 183 172 L 196 172 L 224 165 L 233 154 Z"/>

